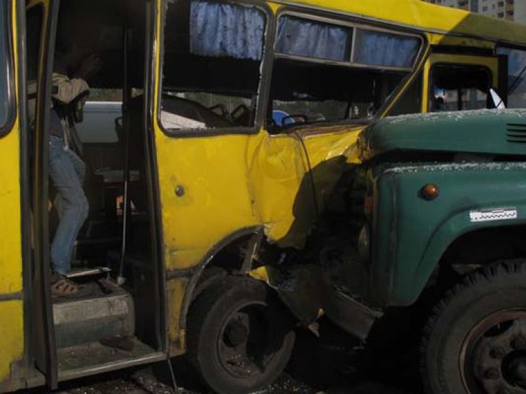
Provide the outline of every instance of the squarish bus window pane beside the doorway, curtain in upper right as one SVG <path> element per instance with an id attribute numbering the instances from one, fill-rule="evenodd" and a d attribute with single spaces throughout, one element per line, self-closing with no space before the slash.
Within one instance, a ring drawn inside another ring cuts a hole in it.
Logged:
<path id="1" fill-rule="evenodd" d="M 168 2 L 160 120 L 166 130 L 253 127 L 266 14 L 216 0 Z"/>

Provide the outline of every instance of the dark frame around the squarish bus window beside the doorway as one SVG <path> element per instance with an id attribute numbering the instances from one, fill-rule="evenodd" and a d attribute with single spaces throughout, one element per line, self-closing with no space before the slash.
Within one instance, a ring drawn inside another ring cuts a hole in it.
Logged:
<path id="1" fill-rule="evenodd" d="M 188 0 L 192 1 L 192 0 Z M 255 105 L 255 116 L 254 124 L 251 127 L 221 127 L 221 128 L 210 128 L 210 129 L 167 129 L 164 127 L 161 121 L 161 106 L 162 106 L 162 82 L 163 82 L 163 68 L 164 68 L 164 33 L 166 26 L 166 11 L 168 10 L 168 0 L 162 0 L 162 12 L 160 15 L 160 43 L 159 43 L 159 59 L 160 64 L 156 77 L 158 78 L 158 105 L 155 108 L 157 112 L 155 114 L 155 121 L 158 124 L 159 129 L 168 137 L 185 138 L 185 137 L 215 137 L 219 135 L 252 135 L 260 133 L 263 121 L 263 114 L 266 109 L 266 101 L 268 96 L 268 85 L 270 81 L 269 66 L 273 60 L 273 40 L 275 36 L 275 15 L 271 8 L 268 6 L 266 1 L 257 0 L 242 0 L 242 1 L 229 1 L 229 0 L 212 0 L 216 3 L 230 3 L 234 5 L 251 5 L 263 12 L 265 20 L 265 29 L 263 32 L 263 51 L 260 60 L 260 82 L 258 84 L 258 90 L 256 92 L 256 105 Z M 270 64 L 269 64 L 270 62 Z M 266 73 L 266 74 L 265 74 Z"/>

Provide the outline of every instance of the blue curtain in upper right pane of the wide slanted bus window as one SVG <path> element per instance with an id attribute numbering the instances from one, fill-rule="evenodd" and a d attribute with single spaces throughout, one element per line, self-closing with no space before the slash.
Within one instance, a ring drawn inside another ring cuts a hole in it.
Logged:
<path id="1" fill-rule="evenodd" d="M 416 37 L 399 36 L 356 29 L 353 62 L 371 66 L 412 67 L 421 41 Z"/>

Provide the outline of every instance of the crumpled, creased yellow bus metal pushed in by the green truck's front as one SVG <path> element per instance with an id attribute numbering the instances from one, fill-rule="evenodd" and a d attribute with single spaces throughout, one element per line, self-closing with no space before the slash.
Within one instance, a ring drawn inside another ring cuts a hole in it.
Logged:
<path id="1" fill-rule="evenodd" d="M 264 138 L 249 166 L 249 181 L 254 209 L 269 240 L 282 247 L 303 246 L 316 210 L 323 211 L 345 167 L 358 162 L 353 147 L 361 130 L 347 126 L 312 134 L 300 130 L 271 136 L 262 132 Z"/>

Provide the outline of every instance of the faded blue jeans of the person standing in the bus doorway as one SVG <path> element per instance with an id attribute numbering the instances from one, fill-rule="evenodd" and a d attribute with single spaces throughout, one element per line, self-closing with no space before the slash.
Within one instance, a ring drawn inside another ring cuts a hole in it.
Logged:
<path id="1" fill-rule="evenodd" d="M 55 272 L 67 274 L 71 269 L 71 252 L 75 239 L 88 216 L 88 200 L 82 189 L 86 165 L 75 153 L 64 147 L 64 141 L 51 135 L 49 137 L 49 176 L 57 189 L 55 207 L 58 211 L 58 224 L 51 259 Z"/>

